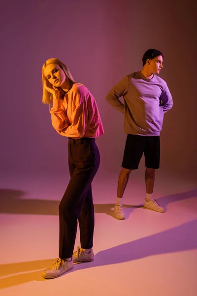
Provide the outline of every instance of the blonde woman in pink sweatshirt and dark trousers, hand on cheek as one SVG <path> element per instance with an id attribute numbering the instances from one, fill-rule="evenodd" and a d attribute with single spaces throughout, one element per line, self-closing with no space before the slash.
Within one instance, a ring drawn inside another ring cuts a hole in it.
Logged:
<path id="1" fill-rule="evenodd" d="M 59 258 L 42 273 L 44 278 L 51 279 L 72 269 L 74 262 L 94 260 L 91 184 L 100 163 L 95 138 L 104 131 L 93 95 L 83 84 L 74 81 L 59 59 L 49 59 L 43 65 L 42 83 L 42 102 L 50 106 L 52 125 L 60 135 L 68 138 L 70 172 L 70 181 L 59 205 Z M 73 253 L 77 220 L 81 247 Z"/>

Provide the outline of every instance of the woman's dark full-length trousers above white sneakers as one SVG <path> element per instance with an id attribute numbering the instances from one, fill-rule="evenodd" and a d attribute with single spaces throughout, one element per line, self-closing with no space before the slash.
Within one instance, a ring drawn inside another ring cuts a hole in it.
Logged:
<path id="1" fill-rule="evenodd" d="M 59 205 L 61 259 L 72 257 L 77 220 L 81 247 L 93 247 L 95 217 L 91 184 L 99 163 L 100 155 L 95 139 L 68 140 L 70 181 Z"/>

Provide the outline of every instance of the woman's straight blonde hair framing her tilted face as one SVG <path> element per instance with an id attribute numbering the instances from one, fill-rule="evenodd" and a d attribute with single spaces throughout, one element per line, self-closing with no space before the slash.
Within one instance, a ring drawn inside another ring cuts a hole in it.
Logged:
<path id="1" fill-rule="evenodd" d="M 61 62 L 59 59 L 57 59 L 57 58 L 48 59 L 44 63 L 44 65 L 42 66 L 42 88 L 43 88 L 42 103 L 48 104 L 49 106 L 51 106 L 52 103 L 53 103 L 53 96 L 52 96 L 51 93 L 49 93 L 44 88 L 44 81 L 48 81 L 48 79 L 44 75 L 44 70 L 45 70 L 46 66 L 49 65 L 49 64 L 56 64 L 56 65 L 60 66 L 60 68 L 64 71 L 64 73 L 65 73 L 66 77 L 69 79 L 69 81 L 72 82 L 72 83 L 75 83 L 75 81 L 74 81 L 70 71 L 66 67 L 66 65 L 63 64 L 63 62 Z"/>

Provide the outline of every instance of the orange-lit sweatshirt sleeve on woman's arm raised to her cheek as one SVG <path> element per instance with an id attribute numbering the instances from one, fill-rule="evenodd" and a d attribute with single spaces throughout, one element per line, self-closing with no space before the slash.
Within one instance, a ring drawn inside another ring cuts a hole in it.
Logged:
<path id="1" fill-rule="evenodd" d="M 51 122 L 56 131 L 61 131 L 68 127 L 69 122 L 68 118 L 61 108 L 62 100 L 53 100 L 53 107 L 50 110 L 51 113 Z"/>

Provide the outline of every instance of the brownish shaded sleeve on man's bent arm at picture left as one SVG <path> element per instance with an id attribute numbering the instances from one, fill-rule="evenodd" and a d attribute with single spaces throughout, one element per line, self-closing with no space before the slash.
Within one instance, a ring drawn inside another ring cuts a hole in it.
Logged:
<path id="1" fill-rule="evenodd" d="M 129 80 L 128 76 L 126 76 L 114 85 L 105 98 L 111 106 L 122 113 L 124 113 L 124 104 L 119 100 L 119 98 L 128 92 L 128 84 Z"/>

